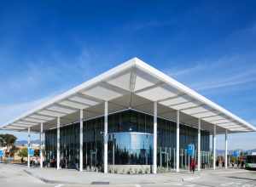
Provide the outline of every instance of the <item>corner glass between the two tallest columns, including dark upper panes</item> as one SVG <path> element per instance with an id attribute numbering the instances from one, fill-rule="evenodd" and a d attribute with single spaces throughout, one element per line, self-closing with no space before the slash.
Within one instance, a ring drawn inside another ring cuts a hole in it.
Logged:
<path id="1" fill-rule="evenodd" d="M 153 117 L 137 111 L 122 111 L 108 117 L 108 163 L 151 165 Z"/>

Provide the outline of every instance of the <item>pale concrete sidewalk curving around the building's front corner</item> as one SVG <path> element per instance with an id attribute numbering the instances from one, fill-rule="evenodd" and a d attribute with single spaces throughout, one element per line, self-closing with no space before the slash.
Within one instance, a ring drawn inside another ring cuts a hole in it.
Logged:
<path id="1" fill-rule="evenodd" d="M 113 174 L 55 168 L 26 168 L 26 173 L 50 184 L 165 184 L 199 178 L 200 173 Z"/>

